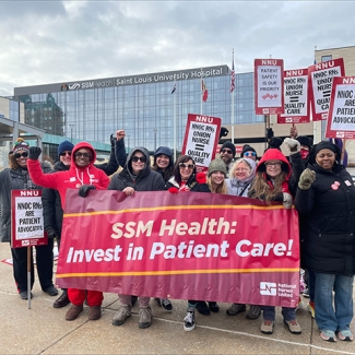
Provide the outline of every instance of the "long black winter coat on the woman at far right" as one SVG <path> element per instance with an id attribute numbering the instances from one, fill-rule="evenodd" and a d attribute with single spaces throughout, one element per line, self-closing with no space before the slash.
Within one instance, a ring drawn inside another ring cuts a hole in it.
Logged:
<path id="1" fill-rule="evenodd" d="M 355 273 L 355 187 L 342 165 L 333 171 L 317 164 L 316 180 L 308 190 L 297 189 L 295 206 L 308 214 L 304 236 L 305 268 L 329 274 Z"/>

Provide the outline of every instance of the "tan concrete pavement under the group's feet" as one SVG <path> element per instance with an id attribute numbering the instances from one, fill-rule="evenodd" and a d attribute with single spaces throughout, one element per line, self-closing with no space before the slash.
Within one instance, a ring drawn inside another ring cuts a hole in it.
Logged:
<path id="1" fill-rule="evenodd" d="M 0 260 L 7 258 L 11 258 L 10 246 L 0 244 Z M 88 321 L 85 307 L 76 320 L 69 322 L 64 320 L 69 306 L 52 308 L 57 297 L 43 293 L 37 281 L 28 309 L 27 301 L 16 293 L 11 265 L 0 262 L 0 354 L 355 354 L 355 342 L 328 343 L 320 339 L 306 310 L 307 299 L 297 311 L 300 335 L 288 332 L 281 309 L 276 310 L 274 333 L 263 335 L 261 318 L 248 320 L 246 312 L 227 316 L 228 304 L 220 304 L 220 313 L 206 317 L 197 312 L 197 328 L 185 332 L 185 300 L 173 300 L 173 312 L 152 300 L 153 324 L 141 330 L 138 306 L 123 326 L 111 326 L 118 309 L 117 295 L 105 294 L 102 319 Z M 355 333 L 355 321 L 352 331 Z"/>

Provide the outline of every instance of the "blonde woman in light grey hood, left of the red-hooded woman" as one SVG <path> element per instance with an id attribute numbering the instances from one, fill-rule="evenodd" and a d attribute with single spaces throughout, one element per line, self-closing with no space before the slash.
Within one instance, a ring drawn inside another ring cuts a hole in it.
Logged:
<path id="1" fill-rule="evenodd" d="M 253 153 L 253 150 L 250 150 L 251 146 L 245 145 L 244 151 L 241 152 L 241 156 L 245 156 L 246 152 Z M 246 155 L 250 156 L 250 155 Z M 257 154 L 252 155 L 257 157 Z M 249 188 L 252 184 L 253 178 L 256 177 L 256 167 L 257 163 L 255 159 L 248 157 L 240 157 L 237 159 L 230 170 L 229 170 L 229 178 L 226 179 L 227 186 L 227 193 L 238 197 L 248 197 Z M 237 316 L 246 310 L 245 304 L 237 304 L 234 303 L 227 310 L 226 313 L 228 316 Z M 261 313 L 260 307 L 257 305 L 250 305 L 249 310 L 246 315 L 248 319 L 258 319 Z"/>

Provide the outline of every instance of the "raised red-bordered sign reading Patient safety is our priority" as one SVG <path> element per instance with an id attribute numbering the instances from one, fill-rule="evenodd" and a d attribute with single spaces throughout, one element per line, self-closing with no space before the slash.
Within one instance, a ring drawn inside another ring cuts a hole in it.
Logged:
<path id="1" fill-rule="evenodd" d="M 283 59 L 255 60 L 255 96 L 257 115 L 277 115 L 284 111 Z"/>

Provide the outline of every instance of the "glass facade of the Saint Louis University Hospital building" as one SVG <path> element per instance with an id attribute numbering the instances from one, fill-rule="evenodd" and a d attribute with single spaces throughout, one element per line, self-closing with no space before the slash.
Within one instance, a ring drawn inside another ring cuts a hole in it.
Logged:
<path id="1" fill-rule="evenodd" d="M 230 70 L 227 66 L 218 68 L 215 75 L 206 75 L 212 72 L 211 68 L 202 68 L 198 72 L 192 69 L 175 72 L 175 76 L 167 72 L 17 87 L 15 97 L 25 103 L 26 123 L 48 133 L 109 143 L 110 133 L 125 129 L 127 146 L 143 145 L 151 151 L 159 145 L 173 147 L 176 118 L 179 150 L 188 114 L 221 117 L 222 126 L 230 125 Z M 199 76 L 199 73 L 202 74 Z M 178 75 L 189 78 L 171 80 L 180 78 Z M 209 91 L 205 103 L 202 102 L 202 78 Z M 171 94 L 175 84 L 176 91 Z M 39 93 L 32 93 L 36 91 Z M 252 72 L 236 74 L 233 94 L 235 125 L 263 122 L 263 116 L 255 115 Z"/>

